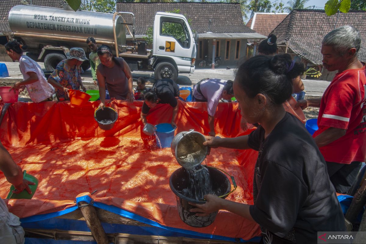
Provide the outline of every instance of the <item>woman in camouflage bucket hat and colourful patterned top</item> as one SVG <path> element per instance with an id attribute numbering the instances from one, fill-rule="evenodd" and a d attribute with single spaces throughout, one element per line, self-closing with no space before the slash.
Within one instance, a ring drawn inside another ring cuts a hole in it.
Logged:
<path id="1" fill-rule="evenodd" d="M 48 78 L 48 83 L 54 86 L 57 91 L 57 99 L 63 98 L 68 100 L 68 90 L 80 90 L 85 92 L 81 80 L 81 64 L 83 61 L 87 60 L 85 52 L 82 48 L 71 48 L 70 52 L 66 53 L 67 59 L 62 60 L 52 75 Z"/>

